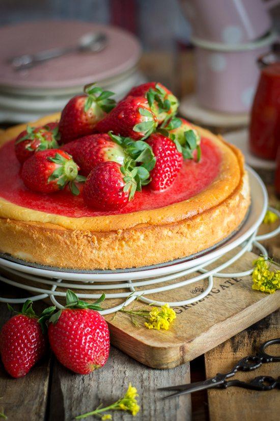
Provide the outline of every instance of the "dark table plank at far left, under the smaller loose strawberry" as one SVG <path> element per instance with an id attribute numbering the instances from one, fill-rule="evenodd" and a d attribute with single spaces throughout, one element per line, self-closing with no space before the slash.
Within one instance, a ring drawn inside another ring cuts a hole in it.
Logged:
<path id="1" fill-rule="evenodd" d="M 5 285 L 7 290 L 7 286 Z M 4 284 L 0 284 L 4 290 Z M 19 296 L 19 292 L 17 290 Z M 7 296 L 7 295 L 6 295 Z M 11 295 L 9 295 L 11 296 Z M 13 294 L 13 296 L 15 296 Z M 14 305 L 19 310 L 21 306 Z M 45 306 L 39 303 L 34 305 L 35 310 L 41 311 Z M 6 304 L 0 304 L 0 328 L 11 316 Z M 49 356 L 36 364 L 25 377 L 11 378 L 0 363 L 0 407 L 11 421 L 43 421 L 49 380 Z M 54 418 L 53 418 L 54 419 Z"/>

